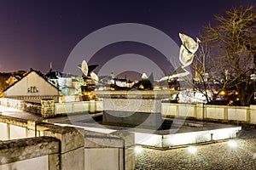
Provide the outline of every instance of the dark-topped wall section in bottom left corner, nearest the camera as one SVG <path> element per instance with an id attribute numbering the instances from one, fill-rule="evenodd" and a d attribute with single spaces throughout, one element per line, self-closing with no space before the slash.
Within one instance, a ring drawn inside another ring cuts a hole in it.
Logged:
<path id="1" fill-rule="evenodd" d="M 0 141 L 0 169 L 54 170 L 59 140 L 51 137 Z"/>

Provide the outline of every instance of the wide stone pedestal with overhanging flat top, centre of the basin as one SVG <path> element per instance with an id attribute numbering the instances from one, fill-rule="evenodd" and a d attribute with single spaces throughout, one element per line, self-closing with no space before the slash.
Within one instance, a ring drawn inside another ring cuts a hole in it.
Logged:
<path id="1" fill-rule="evenodd" d="M 161 99 L 177 91 L 95 91 L 103 99 L 103 123 L 157 129 L 162 124 Z"/>

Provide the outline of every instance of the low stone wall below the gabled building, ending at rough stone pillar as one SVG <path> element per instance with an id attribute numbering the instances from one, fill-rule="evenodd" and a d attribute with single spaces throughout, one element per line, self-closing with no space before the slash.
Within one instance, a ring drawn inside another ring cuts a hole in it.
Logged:
<path id="1" fill-rule="evenodd" d="M 20 111 L 41 114 L 41 104 L 38 103 L 30 103 L 19 99 L 0 98 L 0 105 L 12 107 Z"/>

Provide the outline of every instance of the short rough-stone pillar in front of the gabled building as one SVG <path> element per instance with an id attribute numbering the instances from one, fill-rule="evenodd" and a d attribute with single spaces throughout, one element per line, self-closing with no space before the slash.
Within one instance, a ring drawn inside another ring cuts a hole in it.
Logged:
<path id="1" fill-rule="evenodd" d="M 45 117 L 55 116 L 55 100 L 41 99 L 41 115 Z"/>

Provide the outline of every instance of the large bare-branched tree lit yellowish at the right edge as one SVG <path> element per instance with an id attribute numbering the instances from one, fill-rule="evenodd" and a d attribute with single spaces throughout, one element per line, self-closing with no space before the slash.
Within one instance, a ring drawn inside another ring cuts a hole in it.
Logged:
<path id="1" fill-rule="evenodd" d="M 249 105 L 254 94 L 251 75 L 254 71 L 253 58 L 256 57 L 256 12 L 253 6 L 241 6 L 227 10 L 223 15 L 216 15 L 215 19 L 218 24 L 206 26 L 203 37 L 207 47 L 211 48 L 215 73 L 222 76 L 215 81 L 222 80 L 221 88 L 235 90 L 240 104 Z M 205 51 L 199 55 L 202 58 L 206 54 L 209 53 Z M 206 72 L 207 63 L 201 65 Z"/>

